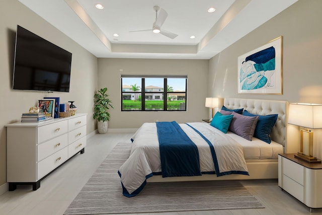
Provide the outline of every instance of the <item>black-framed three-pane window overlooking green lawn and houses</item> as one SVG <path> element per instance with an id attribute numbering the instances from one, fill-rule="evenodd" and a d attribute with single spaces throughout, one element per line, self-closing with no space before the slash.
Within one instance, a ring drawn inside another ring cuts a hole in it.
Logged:
<path id="1" fill-rule="evenodd" d="M 186 76 L 121 76 L 121 86 L 122 111 L 187 110 Z"/>

